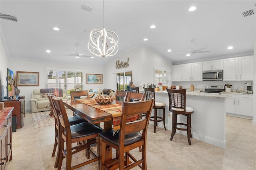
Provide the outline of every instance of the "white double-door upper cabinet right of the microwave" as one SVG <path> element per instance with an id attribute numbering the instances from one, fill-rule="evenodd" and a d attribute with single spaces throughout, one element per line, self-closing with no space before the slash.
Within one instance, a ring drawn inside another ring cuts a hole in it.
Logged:
<path id="1" fill-rule="evenodd" d="M 253 80 L 253 56 L 224 59 L 223 80 Z"/>

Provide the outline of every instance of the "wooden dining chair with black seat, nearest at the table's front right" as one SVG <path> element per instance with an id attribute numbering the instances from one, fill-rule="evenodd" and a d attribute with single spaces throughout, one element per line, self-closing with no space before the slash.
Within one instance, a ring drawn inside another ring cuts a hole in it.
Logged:
<path id="1" fill-rule="evenodd" d="M 124 170 L 131 169 L 135 166 L 139 166 L 143 170 L 147 169 L 147 128 L 153 104 L 154 99 L 140 102 L 125 101 L 123 103 L 119 133 L 113 135 L 113 130 L 108 130 L 99 134 L 100 143 L 102 144 L 101 169 L 119 168 L 120 170 Z M 145 119 L 127 122 L 126 118 L 129 115 L 141 113 L 146 113 Z M 140 133 L 140 130 L 142 130 L 142 133 Z M 110 146 L 118 152 L 118 156 L 108 162 L 105 162 L 106 146 Z M 139 146 L 142 146 L 141 158 L 137 158 L 139 160 L 136 160 L 129 151 Z M 132 164 L 129 164 L 129 158 L 133 160 Z M 140 164 L 142 164 L 142 166 Z"/>

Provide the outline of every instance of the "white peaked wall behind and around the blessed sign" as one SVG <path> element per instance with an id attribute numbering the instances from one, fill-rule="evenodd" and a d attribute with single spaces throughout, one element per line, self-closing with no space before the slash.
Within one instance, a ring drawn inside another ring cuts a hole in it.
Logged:
<path id="1" fill-rule="evenodd" d="M 116 69 L 116 61 L 126 62 L 127 58 L 129 58 L 129 67 Z M 172 63 L 169 60 L 157 51 L 154 51 L 154 49 L 142 46 L 136 47 L 124 51 L 106 65 L 104 70 L 109 73 L 105 78 L 106 85 L 110 86 L 108 87 L 109 89 L 116 90 L 116 73 L 132 71 L 133 84 L 142 89 L 143 84 L 153 83 L 153 67 L 171 69 L 171 65 Z"/>

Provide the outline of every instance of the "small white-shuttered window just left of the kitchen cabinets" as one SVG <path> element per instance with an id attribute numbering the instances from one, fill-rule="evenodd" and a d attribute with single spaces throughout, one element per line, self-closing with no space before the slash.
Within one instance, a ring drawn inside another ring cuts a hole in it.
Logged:
<path id="1" fill-rule="evenodd" d="M 163 85 L 170 85 L 170 70 L 168 69 L 160 69 L 154 68 L 154 84 L 158 85 L 158 83 L 163 83 Z"/>

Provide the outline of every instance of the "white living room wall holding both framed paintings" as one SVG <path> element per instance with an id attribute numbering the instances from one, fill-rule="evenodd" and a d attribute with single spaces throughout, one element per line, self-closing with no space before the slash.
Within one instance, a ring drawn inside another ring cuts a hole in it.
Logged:
<path id="1" fill-rule="evenodd" d="M 33 89 L 47 88 L 47 69 L 81 70 L 83 72 L 83 89 L 99 89 L 103 88 L 106 84 L 103 81 L 103 84 L 100 85 L 86 85 L 86 73 L 103 74 L 103 78 L 106 73 L 104 73 L 103 69 L 100 67 L 95 69 L 94 66 L 82 64 L 79 65 L 79 63 L 74 65 L 70 63 L 49 63 L 42 61 L 38 62 L 9 59 L 8 68 L 10 68 L 14 74 L 16 74 L 16 71 L 39 72 L 39 86 L 18 86 L 18 89 L 20 89 L 20 96 L 26 97 L 26 110 L 30 110 L 30 99 Z"/>

